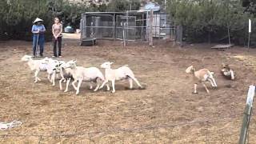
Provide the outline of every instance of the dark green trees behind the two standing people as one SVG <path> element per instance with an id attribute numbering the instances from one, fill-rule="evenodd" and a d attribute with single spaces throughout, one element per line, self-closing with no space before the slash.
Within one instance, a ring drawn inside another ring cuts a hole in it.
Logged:
<path id="1" fill-rule="evenodd" d="M 1 0 L 0 36 L 7 32 L 14 39 L 31 39 L 32 22 L 37 17 L 44 20 L 49 35 L 54 17 L 62 19 L 64 26 L 70 23 L 78 27 L 81 14 L 87 10 L 85 4 L 68 0 Z"/>

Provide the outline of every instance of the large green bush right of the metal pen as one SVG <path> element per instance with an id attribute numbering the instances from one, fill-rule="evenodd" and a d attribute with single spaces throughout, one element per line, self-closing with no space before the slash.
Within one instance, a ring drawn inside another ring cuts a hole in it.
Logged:
<path id="1" fill-rule="evenodd" d="M 229 30 L 231 42 L 244 44 L 248 18 L 253 18 L 233 0 L 169 0 L 167 12 L 183 26 L 187 42 L 228 42 Z"/>

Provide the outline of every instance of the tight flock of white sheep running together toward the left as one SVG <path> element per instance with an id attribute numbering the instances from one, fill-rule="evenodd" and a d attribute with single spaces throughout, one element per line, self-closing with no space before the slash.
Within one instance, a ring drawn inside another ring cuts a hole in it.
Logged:
<path id="1" fill-rule="evenodd" d="M 38 78 L 40 72 L 46 71 L 48 74 L 48 80 L 55 86 L 55 80 L 59 76 L 59 89 L 63 90 L 62 82 L 66 82 L 66 89 L 64 92 L 68 91 L 70 81 L 72 80 L 72 86 L 76 90 L 76 94 L 79 94 L 80 86 L 82 82 L 90 83 L 90 89 L 93 89 L 93 83 L 97 86 L 94 91 L 102 89 L 106 86 L 106 90 L 110 90 L 108 84 L 109 81 L 112 82 L 112 93 L 115 92 L 114 82 L 127 80 L 130 83 L 130 89 L 133 89 L 133 81 L 137 83 L 140 89 L 145 89 L 135 78 L 134 72 L 130 70 L 128 66 L 121 66 L 118 69 L 111 69 L 110 65 L 113 62 L 104 62 L 101 68 L 105 69 L 105 76 L 102 74 L 101 70 L 97 67 L 83 67 L 77 66 L 75 60 L 70 60 L 68 62 L 54 60 L 52 58 L 42 58 L 39 60 L 34 60 L 30 55 L 24 55 L 22 57 L 22 62 L 27 62 L 30 70 L 34 72 L 34 82 L 41 81 Z M 78 84 L 77 84 L 78 83 Z"/>

